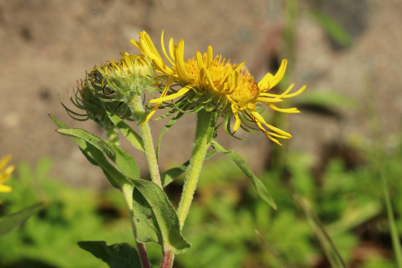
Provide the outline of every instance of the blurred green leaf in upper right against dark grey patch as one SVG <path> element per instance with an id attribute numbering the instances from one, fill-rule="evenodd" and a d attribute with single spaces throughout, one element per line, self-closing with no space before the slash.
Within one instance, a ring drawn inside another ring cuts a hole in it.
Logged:
<path id="1" fill-rule="evenodd" d="M 352 45 L 352 37 L 334 18 L 318 10 L 310 10 L 310 15 L 336 43 L 343 47 Z"/>

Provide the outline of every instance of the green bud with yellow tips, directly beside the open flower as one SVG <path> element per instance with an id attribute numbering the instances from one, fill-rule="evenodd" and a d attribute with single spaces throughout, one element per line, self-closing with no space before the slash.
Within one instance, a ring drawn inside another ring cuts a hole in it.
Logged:
<path id="1" fill-rule="evenodd" d="M 113 59 L 109 64 L 95 66 L 86 76 L 86 84 L 99 100 L 128 102 L 133 94 L 139 96 L 151 90 L 155 72 L 152 61 L 144 55 L 121 55 L 118 62 Z"/>

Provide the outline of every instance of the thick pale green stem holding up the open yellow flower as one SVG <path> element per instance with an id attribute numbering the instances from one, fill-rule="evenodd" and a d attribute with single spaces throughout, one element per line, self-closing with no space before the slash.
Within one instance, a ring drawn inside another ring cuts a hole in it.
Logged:
<path id="1" fill-rule="evenodd" d="M 195 188 L 197 187 L 198 177 L 205 159 L 205 153 L 207 153 L 214 132 L 216 119 L 216 112 L 200 110 L 197 113 L 197 126 L 195 128 L 193 152 L 191 153 L 190 164 L 187 168 L 186 179 L 184 181 L 183 193 L 177 209 L 180 228 L 183 228 L 184 221 L 189 213 L 191 201 L 193 200 Z"/>

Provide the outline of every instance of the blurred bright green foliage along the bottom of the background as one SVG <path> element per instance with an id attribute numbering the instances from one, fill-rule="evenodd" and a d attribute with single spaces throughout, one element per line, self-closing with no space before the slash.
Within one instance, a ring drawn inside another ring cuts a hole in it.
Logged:
<path id="1" fill-rule="evenodd" d="M 401 151 L 395 149 L 384 161 L 396 215 L 402 210 Z M 259 176 L 278 205 L 274 211 L 235 164 L 216 157 L 219 155 L 214 156 L 215 161 L 207 161 L 201 172 L 183 230 L 193 246 L 176 256 L 177 267 L 279 267 L 254 229 L 287 266 L 328 267 L 322 246 L 293 198 L 295 192 L 308 200 L 349 264 L 395 267 L 381 180 L 371 160 L 347 170 L 342 160 L 334 159 L 318 183 L 310 171 L 312 156 L 290 153 L 289 179 L 279 180 L 270 172 Z M 115 189 L 71 188 L 49 178 L 50 168 L 47 158 L 35 169 L 18 164 L 9 183 L 13 192 L 2 195 L 1 215 L 38 201 L 44 201 L 45 208 L 1 238 L 0 266 L 107 267 L 76 243 L 105 240 L 108 244 L 134 244 L 121 194 Z M 181 184 L 179 179 L 167 188 L 173 202 L 177 199 L 174 189 Z M 397 226 L 400 231 L 400 219 Z M 359 256 L 357 252 L 368 245 L 372 253 Z M 159 246 L 147 243 L 147 247 L 152 264 L 158 267 Z"/>

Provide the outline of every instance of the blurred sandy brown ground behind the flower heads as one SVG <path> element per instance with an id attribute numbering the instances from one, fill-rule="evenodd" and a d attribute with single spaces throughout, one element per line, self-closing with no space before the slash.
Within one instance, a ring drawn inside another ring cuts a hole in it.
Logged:
<path id="1" fill-rule="evenodd" d="M 311 18 L 309 8 L 330 14 L 353 37 L 353 45 L 340 49 Z M 215 54 L 246 61 L 256 80 L 283 58 L 281 35 L 284 2 L 277 0 L 0 0 L 0 153 L 32 164 L 41 156 L 54 162 L 53 175 L 74 185 L 107 185 L 76 145 L 54 132 L 47 116 L 55 115 L 73 127 L 103 135 L 93 122 L 78 122 L 66 115 L 58 95 L 68 104 L 85 70 L 119 52 L 138 53 L 129 43 L 146 30 L 157 47 L 165 38 L 185 41 L 185 58 L 212 45 Z M 402 115 L 402 2 L 399 0 L 300 1 L 295 59 L 289 62 L 292 80 L 310 92 L 335 92 L 355 100 L 337 108 L 337 117 L 302 110 L 291 115 L 290 146 L 319 153 L 331 142 L 357 142 L 368 146 L 369 113 L 378 111 L 378 127 L 388 145 L 395 144 Z M 375 122 L 375 121 L 374 121 Z M 154 139 L 167 121 L 152 122 Z M 185 116 L 164 137 L 160 166 L 188 160 L 194 117 Z M 257 172 L 274 146 L 263 135 L 240 137 L 219 132 L 218 141 L 245 155 Z M 128 143 L 142 174 L 144 157 Z M 174 162 L 173 162 L 173 159 Z"/>

